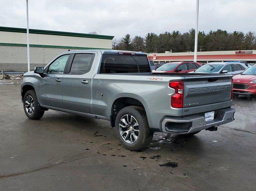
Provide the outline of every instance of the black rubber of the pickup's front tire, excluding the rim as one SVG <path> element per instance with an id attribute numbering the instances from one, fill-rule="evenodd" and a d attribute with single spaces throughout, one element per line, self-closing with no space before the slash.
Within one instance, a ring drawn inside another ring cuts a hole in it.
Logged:
<path id="1" fill-rule="evenodd" d="M 26 110 L 26 98 L 31 96 L 34 101 L 34 111 L 29 114 Z M 44 110 L 41 110 L 38 100 L 36 98 L 36 92 L 34 90 L 27 91 L 23 98 L 23 108 L 26 116 L 30 119 L 40 119 L 44 115 Z"/>

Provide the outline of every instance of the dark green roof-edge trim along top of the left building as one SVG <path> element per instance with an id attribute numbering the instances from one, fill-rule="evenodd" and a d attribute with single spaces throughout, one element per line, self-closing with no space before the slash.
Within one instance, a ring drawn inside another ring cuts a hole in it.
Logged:
<path id="1" fill-rule="evenodd" d="M 1 26 L 0 26 L 0 31 L 27 33 L 27 29 L 25 29 L 25 28 L 12 28 L 12 27 L 1 27 Z M 84 38 L 98 38 L 98 39 L 109 39 L 109 40 L 112 40 L 114 38 L 114 36 L 107 36 L 107 35 L 48 31 L 48 30 L 38 30 L 38 29 L 29 29 L 29 33 L 45 34 L 45 35 L 58 35 L 58 36 L 84 37 Z"/>

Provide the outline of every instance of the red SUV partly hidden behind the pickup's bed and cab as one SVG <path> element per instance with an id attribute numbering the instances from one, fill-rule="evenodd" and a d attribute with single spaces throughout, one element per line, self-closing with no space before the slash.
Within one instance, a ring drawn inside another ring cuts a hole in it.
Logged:
<path id="1" fill-rule="evenodd" d="M 153 73 L 188 73 L 192 72 L 199 67 L 201 67 L 201 63 L 198 62 L 169 62 L 162 66 L 160 66 L 158 69 L 153 70 Z"/>

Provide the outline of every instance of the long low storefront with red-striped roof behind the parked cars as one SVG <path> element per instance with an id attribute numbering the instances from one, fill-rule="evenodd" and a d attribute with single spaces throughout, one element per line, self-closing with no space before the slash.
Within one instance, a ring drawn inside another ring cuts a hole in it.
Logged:
<path id="1" fill-rule="evenodd" d="M 150 53 L 148 58 L 154 63 L 193 61 L 194 52 L 171 53 Z M 247 63 L 256 62 L 256 50 L 236 50 L 236 51 L 206 51 L 197 53 L 197 61 L 201 63 L 216 61 L 246 61 Z"/>

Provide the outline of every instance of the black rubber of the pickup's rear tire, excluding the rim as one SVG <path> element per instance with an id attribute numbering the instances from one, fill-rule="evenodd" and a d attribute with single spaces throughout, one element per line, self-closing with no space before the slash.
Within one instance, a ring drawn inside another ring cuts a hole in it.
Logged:
<path id="1" fill-rule="evenodd" d="M 124 115 L 132 115 L 138 122 L 139 136 L 138 139 L 134 143 L 127 143 L 122 138 L 119 131 L 119 122 Z M 149 129 L 148 119 L 146 116 L 146 112 L 142 107 L 139 106 L 128 106 L 122 108 L 117 116 L 115 122 L 116 135 L 118 136 L 121 144 L 128 150 L 131 151 L 141 151 L 148 148 L 150 142 L 153 139 L 154 132 Z"/>

